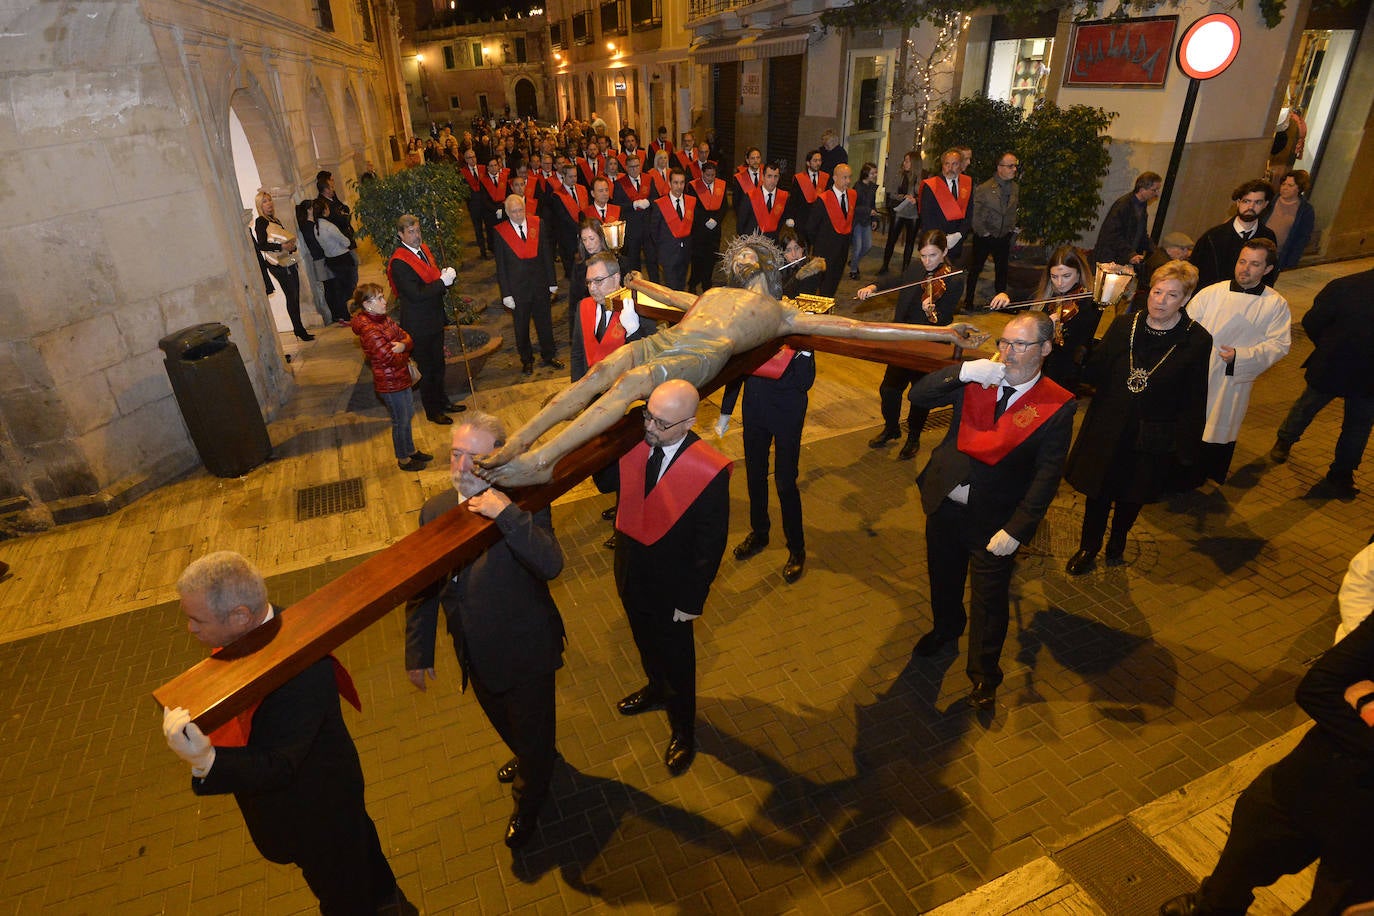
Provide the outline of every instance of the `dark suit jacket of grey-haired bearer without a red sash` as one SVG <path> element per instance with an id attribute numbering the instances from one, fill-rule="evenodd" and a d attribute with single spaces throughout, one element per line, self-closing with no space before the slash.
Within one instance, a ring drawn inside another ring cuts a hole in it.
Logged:
<path id="1" fill-rule="evenodd" d="M 459 504 L 445 490 L 420 509 L 420 525 Z M 502 540 L 405 604 L 405 667 L 434 667 L 438 608 L 448 621 L 464 683 L 475 677 L 502 694 L 563 665 L 563 618 L 548 581 L 563 570 L 563 549 L 547 508 L 508 505 L 496 516 Z"/>

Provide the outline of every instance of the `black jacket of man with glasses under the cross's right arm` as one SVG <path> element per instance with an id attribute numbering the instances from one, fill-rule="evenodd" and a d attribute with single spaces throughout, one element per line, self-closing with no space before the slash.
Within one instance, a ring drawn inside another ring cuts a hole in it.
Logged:
<path id="1" fill-rule="evenodd" d="M 1035 534 L 1059 489 L 1077 402 L 1069 401 L 1055 411 L 996 464 L 984 464 L 958 448 L 966 387 L 967 385 L 959 380 L 959 365 L 930 372 L 911 387 L 910 397 L 915 407 L 929 409 L 945 404 L 954 405 L 948 434 L 916 477 L 921 505 L 929 516 L 940 508 L 949 490 L 967 482 L 969 511 L 985 530 L 987 537 L 991 538 L 1003 529 L 1025 544 Z M 1015 405 L 1011 409 L 1014 411 Z"/>

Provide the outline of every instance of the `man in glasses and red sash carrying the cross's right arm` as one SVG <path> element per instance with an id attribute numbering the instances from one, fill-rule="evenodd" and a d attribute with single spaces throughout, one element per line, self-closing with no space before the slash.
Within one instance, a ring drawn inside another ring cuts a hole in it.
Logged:
<path id="1" fill-rule="evenodd" d="M 1073 434 L 1073 396 L 1040 374 L 1052 346 L 1050 317 L 1026 312 L 1003 328 L 1000 363 L 955 364 L 911 389 L 912 407 L 954 405 L 949 433 L 916 478 L 926 512 L 934 626 L 914 654 L 940 652 L 959 640 L 967 623 L 973 692 L 966 703 L 976 710 L 996 705 L 1015 552 L 1035 534 L 1059 489 Z"/>

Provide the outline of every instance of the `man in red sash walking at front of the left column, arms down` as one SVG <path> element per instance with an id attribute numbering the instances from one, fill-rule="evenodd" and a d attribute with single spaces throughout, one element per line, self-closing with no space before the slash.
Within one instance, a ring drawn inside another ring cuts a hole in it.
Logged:
<path id="1" fill-rule="evenodd" d="M 525 216 L 525 198 L 506 198 L 506 220 L 496 227 L 496 283 L 502 290 L 502 304 L 511 310 L 515 323 L 515 350 L 521 371 L 534 371 L 534 347 L 529 339 L 529 324 L 539 334 L 543 364 L 551 369 L 566 368 L 558 361 L 554 343 L 554 317 L 550 297 L 558 291 L 554 275 L 554 253 L 540 236 L 540 220 Z"/>

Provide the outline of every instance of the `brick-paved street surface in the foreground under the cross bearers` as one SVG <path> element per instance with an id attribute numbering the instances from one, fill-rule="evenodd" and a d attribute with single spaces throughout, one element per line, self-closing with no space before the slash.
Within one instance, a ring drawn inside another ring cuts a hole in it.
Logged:
<path id="1" fill-rule="evenodd" d="M 566 765 L 526 854 L 500 842 L 508 754 L 458 694 L 452 654 L 415 692 L 398 612 L 339 654 L 403 889 L 429 913 L 925 911 L 1300 725 L 1293 687 L 1330 643 L 1336 586 L 1371 530 L 1367 494 L 1320 483 L 1338 408 L 1287 464 L 1264 457 L 1308 349 L 1294 328 L 1259 383 L 1232 482 L 1147 507 L 1125 567 L 1063 574 L 1081 499 L 1061 490 L 1020 564 L 991 722 L 951 709 L 962 652 L 910 656 L 929 621 L 925 456 L 870 450 L 871 430 L 805 448 L 807 574 L 783 584 L 780 544 L 727 555 L 698 625 L 701 753 L 677 779 L 665 721 L 614 711 L 640 674 L 600 547 L 607 499 L 561 504 Z M 734 490 L 731 544 L 747 518 Z M 273 577 L 273 597 L 357 559 Z M 232 801 L 195 798 L 165 750 L 150 692 L 199 655 L 172 604 L 0 645 L 0 912 L 313 909 Z"/>

